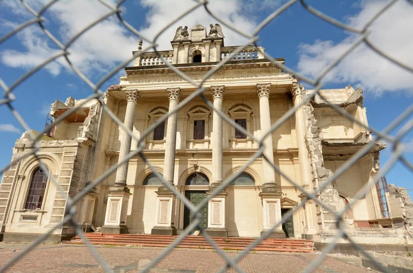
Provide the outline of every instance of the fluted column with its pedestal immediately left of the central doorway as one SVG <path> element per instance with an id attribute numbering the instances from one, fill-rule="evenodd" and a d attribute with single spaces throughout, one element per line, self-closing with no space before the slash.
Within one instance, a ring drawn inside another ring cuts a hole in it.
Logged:
<path id="1" fill-rule="evenodd" d="M 180 98 L 180 88 L 168 88 L 169 112 L 173 111 L 178 105 Z M 165 167 L 164 179 L 167 183 L 173 184 L 175 171 L 175 153 L 176 153 L 176 126 L 178 122 L 178 113 L 171 113 L 168 116 L 167 125 L 167 142 L 165 143 Z M 158 188 L 157 205 L 156 205 L 156 224 L 152 228 L 152 234 L 173 235 L 176 234 L 176 228 L 172 222 L 172 208 L 175 206 L 175 197 L 166 186 Z"/>

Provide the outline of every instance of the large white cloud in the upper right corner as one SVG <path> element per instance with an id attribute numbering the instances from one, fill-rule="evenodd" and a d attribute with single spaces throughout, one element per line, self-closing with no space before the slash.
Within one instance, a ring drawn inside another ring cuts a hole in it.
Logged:
<path id="1" fill-rule="evenodd" d="M 361 29 L 388 1 L 362 1 L 361 12 L 348 19 L 348 24 Z M 370 30 L 370 41 L 396 60 L 412 66 L 413 63 L 413 6 L 399 1 L 383 14 Z M 345 52 L 357 36 L 350 35 L 340 43 L 317 40 L 299 45 L 299 72 L 316 78 L 324 67 Z M 331 83 L 352 83 L 366 91 L 407 91 L 413 94 L 413 76 L 401 67 L 361 45 L 348 55 L 324 78 Z"/>

